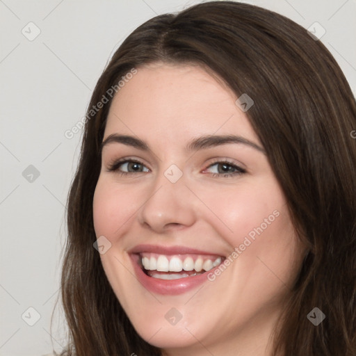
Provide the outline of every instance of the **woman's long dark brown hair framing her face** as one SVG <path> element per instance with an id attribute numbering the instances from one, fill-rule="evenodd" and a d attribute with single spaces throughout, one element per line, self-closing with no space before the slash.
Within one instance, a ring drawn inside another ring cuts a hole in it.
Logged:
<path id="1" fill-rule="evenodd" d="M 99 147 L 111 103 L 90 109 L 140 65 L 197 64 L 254 106 L 246 113 L 308 248 L 275 335 L 276 353 L 356 355 L 355 98 L 324 45 L 290 19 L 233 1 L 159 15 L 124 40 L 92 94 L 67 202 L 62 299 L 69 355 L 161 355 L 133 329 L 106 278 L 92 220 Z M 120 94 L 119 94 L 120 95 Z M 325 320 L 307 314 L 318 307 Z"/>

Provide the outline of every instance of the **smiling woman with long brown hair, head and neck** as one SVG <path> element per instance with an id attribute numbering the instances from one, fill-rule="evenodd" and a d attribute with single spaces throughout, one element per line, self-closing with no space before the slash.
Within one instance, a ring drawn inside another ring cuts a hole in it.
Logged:
<path id="1" fill-rule="evenodd" d="M 355 118 L 276 13 L 213 1 L 133 31 L 70 190 L 67 353 L 356 355 Z"/>

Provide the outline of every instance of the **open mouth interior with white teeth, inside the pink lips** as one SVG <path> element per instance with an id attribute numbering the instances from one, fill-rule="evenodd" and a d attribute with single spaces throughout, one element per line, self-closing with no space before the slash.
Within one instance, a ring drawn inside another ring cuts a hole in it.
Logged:
<path id="1" fill-rule="evenodd" d="M 218 255 L 157 254 L 140 252 L 138 264 L 143 272 L 159 280 L 179 280 L 202 275 L 219 266 L 225 259 Z"/>

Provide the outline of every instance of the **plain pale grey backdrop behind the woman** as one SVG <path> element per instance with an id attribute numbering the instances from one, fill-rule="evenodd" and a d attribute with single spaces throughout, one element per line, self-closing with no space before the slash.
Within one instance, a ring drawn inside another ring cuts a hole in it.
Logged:
<path id="1" fill-rule="evenodd" d="M 133 29 L 200 2 L 0 0 L 1 356 L 65 346 L 60 308 L 52 338 L 50 319 L 81 141 L 81 132 L 66 138 L 65 131 L 83 118 L 108 58 Z M 243 2 L 325 31 L 321 41 L 355 92 L 355 0 Z"/>

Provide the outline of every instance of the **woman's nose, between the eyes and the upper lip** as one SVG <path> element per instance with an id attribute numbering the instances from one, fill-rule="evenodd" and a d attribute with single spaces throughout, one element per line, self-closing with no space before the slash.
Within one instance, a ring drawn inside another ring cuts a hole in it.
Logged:
<path id="1" fill-rule="evenodd" d="M 138 211 L 140 225 L 156 233 L 189 227 L 194 224 L 195 207 L 184 175 L 175 183 L 163 173 L 155 180 L 143 207 Z"/>

